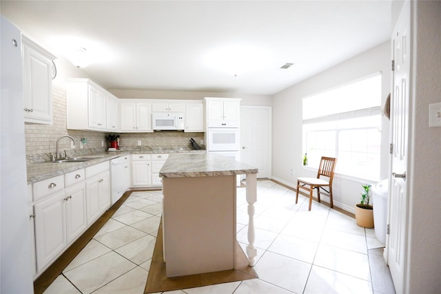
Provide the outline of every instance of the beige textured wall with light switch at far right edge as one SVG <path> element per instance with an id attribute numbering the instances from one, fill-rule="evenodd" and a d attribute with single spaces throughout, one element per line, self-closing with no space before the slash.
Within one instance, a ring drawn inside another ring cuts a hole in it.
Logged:
<path id="1" fill-rule="evenodd" d="M 429 128 L 429 104 L 441 102 L 441 1 L 416 1 L 407 293 L 441 293 L 441 127 Z"/>

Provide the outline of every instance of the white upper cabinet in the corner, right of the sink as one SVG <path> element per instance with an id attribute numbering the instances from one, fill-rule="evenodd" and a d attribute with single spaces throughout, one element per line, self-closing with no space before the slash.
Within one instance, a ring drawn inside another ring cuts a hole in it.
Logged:
<path id="1" fill-rule="evenodd" d="M 68 129 L 118 132 L 116 97 L 88 78 L 67 78 Z"/>

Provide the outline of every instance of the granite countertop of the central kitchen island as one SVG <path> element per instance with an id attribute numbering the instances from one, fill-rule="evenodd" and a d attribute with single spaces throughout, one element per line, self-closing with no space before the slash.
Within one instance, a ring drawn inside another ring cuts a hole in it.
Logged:
<path id="1" fill-rule="evenodd" d="M 161 178 L 257 174 L 258 169 L 220 154 L 172 154 L 163 165 Z"/>

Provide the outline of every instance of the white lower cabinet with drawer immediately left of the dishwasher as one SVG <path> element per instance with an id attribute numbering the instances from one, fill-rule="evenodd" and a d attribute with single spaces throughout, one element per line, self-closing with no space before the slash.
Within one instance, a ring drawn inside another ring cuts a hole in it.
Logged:
<path id="1" fill-rule="evenodd" d="M 110 207 L 109 162 L 85 169 L 86 216 L 88 226 Z"/>

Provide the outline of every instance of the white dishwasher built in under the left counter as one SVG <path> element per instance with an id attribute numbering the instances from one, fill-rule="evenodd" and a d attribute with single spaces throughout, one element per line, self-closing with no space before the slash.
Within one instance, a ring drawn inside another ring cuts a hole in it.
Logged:
<path id="1" fill-rule="evenodd" d="M 112 204 L 123 196 L 130 187 L 130 158 L 120 156 L 110 160 L 110 187 L 112 188 Z"/>

